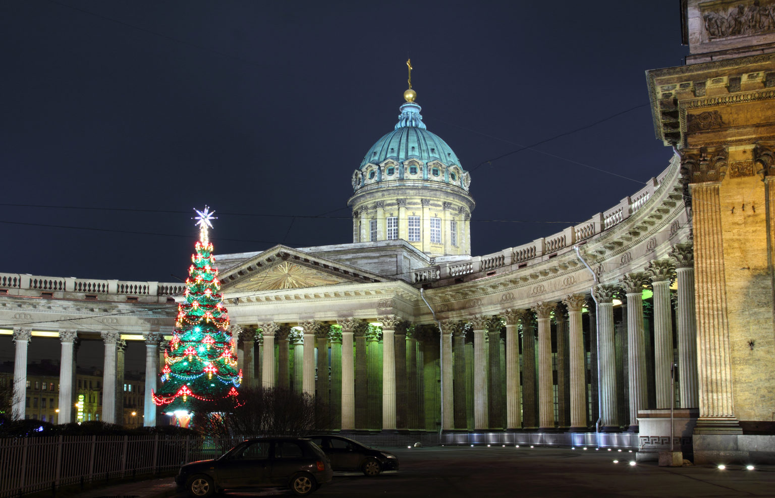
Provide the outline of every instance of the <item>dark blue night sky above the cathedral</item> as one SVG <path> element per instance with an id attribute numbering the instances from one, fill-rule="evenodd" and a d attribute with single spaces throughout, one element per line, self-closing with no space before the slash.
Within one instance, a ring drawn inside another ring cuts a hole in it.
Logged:
<path id="1" fill-rule="evenodd" d="M 667 167 L 644 71 L 687 54 L 670 0 L 5 0 L 0 46 L 0 272 L 167 282 L 205 204 L 216 254 L 352 242 L 407 57 L 474 256 L 583 222 Z"/>

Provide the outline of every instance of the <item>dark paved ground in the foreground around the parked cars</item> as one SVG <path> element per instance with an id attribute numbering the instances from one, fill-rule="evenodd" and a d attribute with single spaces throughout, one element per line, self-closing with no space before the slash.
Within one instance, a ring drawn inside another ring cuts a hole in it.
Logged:
<path id="1" fill-rule="evenodd" d="M 483 446 L 391 448 L 401 471 L 367 478 L 337 474 L 312 496 L 773 496 L 775 466 L 753 471 L 739 465 L 659 467 L 629 465 L 635 454 L 594 448 Z M 614 463 L 618 460 L 618 463 Z M 258 489 L 226 496 L 289 496 Z M 186 496 L 171 478 L 93 489 L 77 496 L 156 498 Z"/>

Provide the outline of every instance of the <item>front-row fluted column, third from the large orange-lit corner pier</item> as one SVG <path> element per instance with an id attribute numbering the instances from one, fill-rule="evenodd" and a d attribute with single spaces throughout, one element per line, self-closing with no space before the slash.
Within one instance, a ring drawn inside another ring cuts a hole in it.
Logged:
<path id="1" fill-rule="evenodd" d="M 643 331 L 643 285 L 649 275 L 627 273 L 620 281 L 627 294 L 627 366 L 629 382 L 629 429 L 638 431 L 638 411 L 649 403 L 646 381 L 646 335 Z"/>

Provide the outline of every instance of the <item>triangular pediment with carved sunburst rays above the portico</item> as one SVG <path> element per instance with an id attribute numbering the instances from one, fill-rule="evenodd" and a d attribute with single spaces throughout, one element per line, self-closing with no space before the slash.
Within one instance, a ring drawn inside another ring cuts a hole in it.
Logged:
<path id="1" fill-rule="evenodd" d="M 222 290 L 231 293 L 386 280 L 354 266 L 284 246 L 274 246 L 221 274 Z"/>

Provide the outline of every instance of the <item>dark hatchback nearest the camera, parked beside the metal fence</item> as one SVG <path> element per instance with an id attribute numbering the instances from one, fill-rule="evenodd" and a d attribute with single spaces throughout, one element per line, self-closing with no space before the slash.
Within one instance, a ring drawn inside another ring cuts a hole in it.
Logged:
<path id="1" fill-rule="evenodd" d="M 307 496 L 330 483 L 331 476 L 328 458 L 309 439 L 259 438 L 239 443 L 218 459 L 183 465 L 175 483 L 198 497 L 253 487 L 288 487 L 296 496 Z"/>

